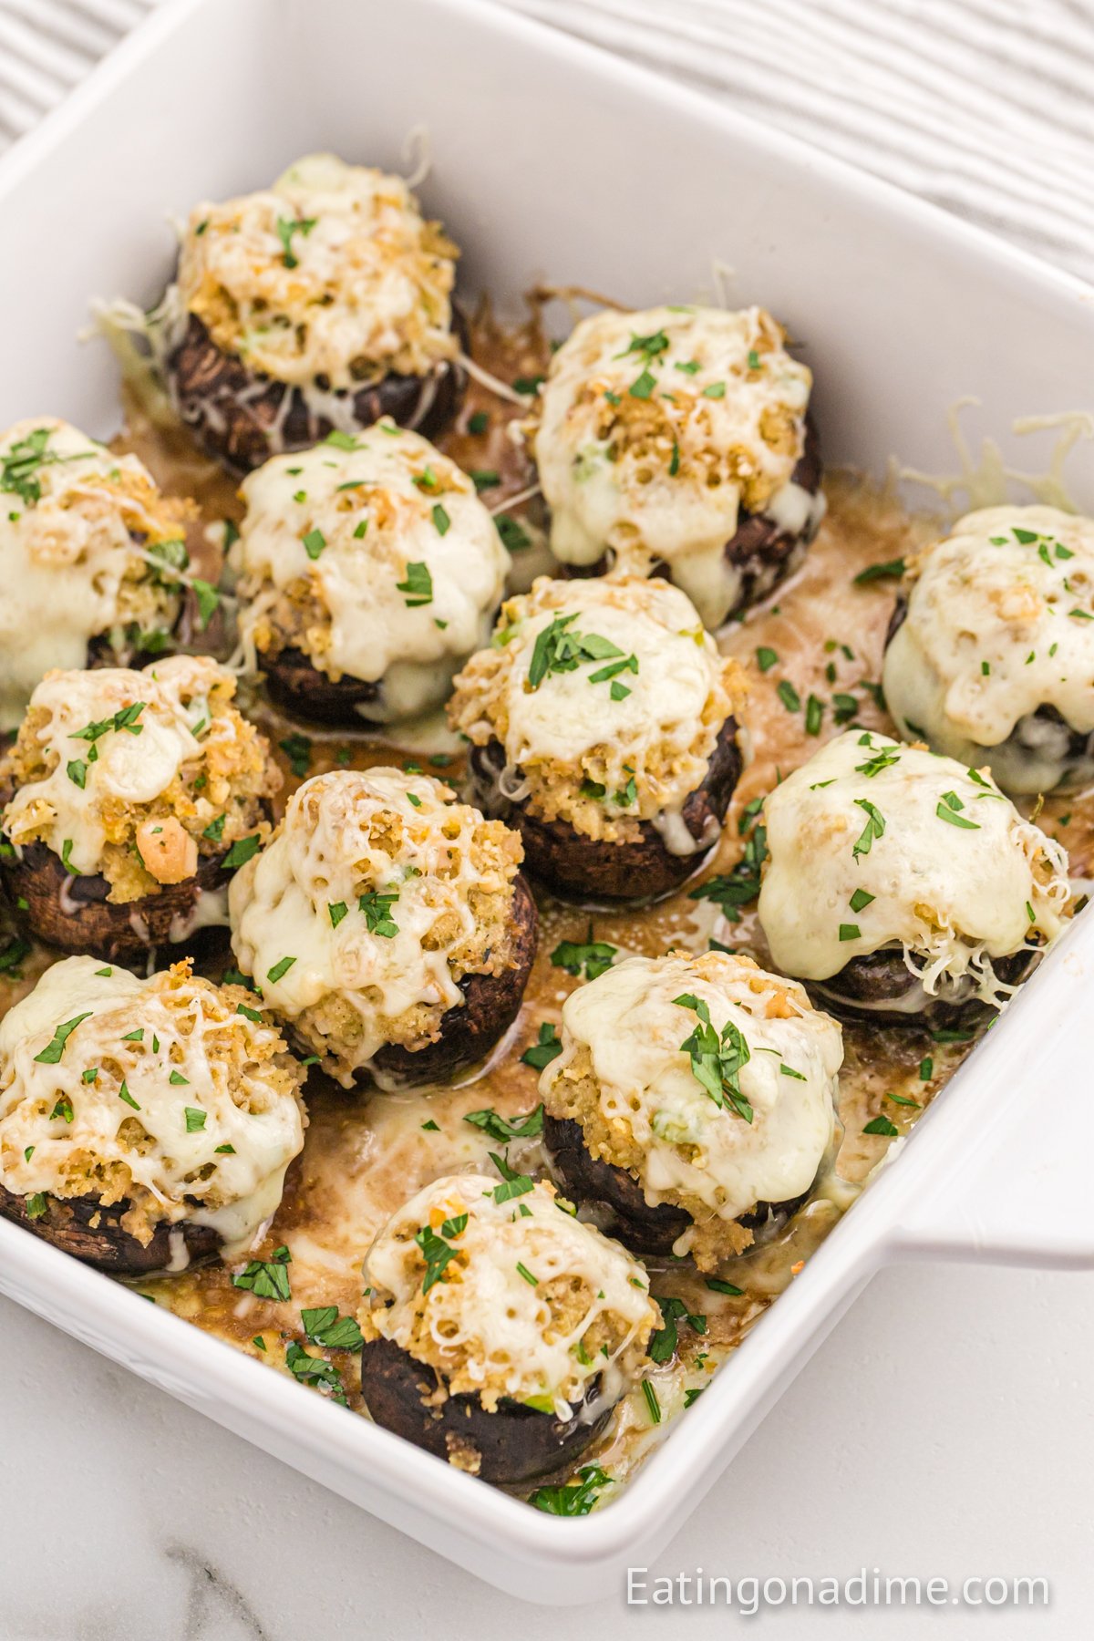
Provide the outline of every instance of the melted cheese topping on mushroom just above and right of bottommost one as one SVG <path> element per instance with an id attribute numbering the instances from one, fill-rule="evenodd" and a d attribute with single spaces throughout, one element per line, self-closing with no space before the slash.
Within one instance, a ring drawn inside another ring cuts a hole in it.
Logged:
<path id="1" fill-rule="evenodd" d="M 715 1104 L 695 1078 L 682 1044 L 699 1016 L 681 996 L 707 1004 L 718 1035 L 727 1024 L 743 1035 L 750 1058 L 740 1090 L 751 1122 Z M 548 1109 L 581 1049 L 590 1057 L 600 1124 L 627 1154 L 640 1149 L 648 1203 L 695 1203 L 735 1219 L 814 1183 L 833 1136 L 843 1039 L 794 981 L 720 952 L 631 957 L 563 1004 L 563 1052 L 540 1078 Z M 674 1252 L 689 1246 L 691 1232 Z"/>

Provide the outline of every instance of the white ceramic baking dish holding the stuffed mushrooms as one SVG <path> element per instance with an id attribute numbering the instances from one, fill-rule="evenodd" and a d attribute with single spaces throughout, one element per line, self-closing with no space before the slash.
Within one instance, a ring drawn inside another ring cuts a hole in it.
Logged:
<path id="1" fill-rule="evenodd" d="M 574 281 L 650 305 L 763 300 L 807 348 L 830 461 L 955 466 L 946 407 L 1012 461 L 1089 407 L 1094 292 L 695 95 L 474 0 L 175 0 L 0 164 L 0 425 L 54 412 L 108 435 L 93 294 L 154 299 L 164 212 L 333 148 L 392 169 L 428 126 L 423 189 L 466 287 Z M 1078 453 L 1083 456 L 1083 451 Z M 1071 463 L 1094 510 L 1094 463 Z M 0 589 L 2 596 L 2 589 Z M 1079 919 L 891 1167 L 607 1510 L 545 1516 L 266 1372 L 0 1221 L 0 1288 L 39 1316 L 492 1584 L 543 1602 L 618 1588 L 702 1500 L 874 1270 L 896 1259 L 1094 1265 L 1089 1008 Z M 991 1477 L 984 1477 L 991 1487 Z"/>

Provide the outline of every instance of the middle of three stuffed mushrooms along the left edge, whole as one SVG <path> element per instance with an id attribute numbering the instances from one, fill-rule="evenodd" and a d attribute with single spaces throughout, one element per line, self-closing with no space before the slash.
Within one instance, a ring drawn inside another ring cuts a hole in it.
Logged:
<path id="1" fill-rule="evenodd" d="M 203 655 L 46 674 L 0 761 L 0 870 L 33 934 L 134 962 L 226 927 L 280 788 L 235 691 Z"/>

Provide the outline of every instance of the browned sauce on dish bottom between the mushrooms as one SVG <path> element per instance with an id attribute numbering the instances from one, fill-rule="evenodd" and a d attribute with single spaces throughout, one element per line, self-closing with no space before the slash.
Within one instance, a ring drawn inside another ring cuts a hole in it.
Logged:
<path id="1" fill-rule="evenodd" d="M 535 323 L 505 331 L 487 313 L 474 327 L 474 358 L 512 382 L 540 374 L 546 348 Z M 128 430 L 116 441 L 118 448 L 136 451 L 167 492 L 194 496 L 203 523 L 239 515 L 235 482 L 198 455 L 182 430 L 153 423 L 136 402 L 126 405 L 126 414 Z M 472 382 L 458 428 L 440 440 L 454 461 L 477 471 L 481 482 L 485 479 L 482 497 L 492 509 L 530 482 L 526 459 L 507 437 L 513 415 L 522 415 L 520 407 Z M 312 1068 L 305 1091 L 307 1144 L 290 1168 L 282 1204 L 261 1247 L 253 1250 L 256 1259 L 280 1265 L 277 1280 L 287 1282 L 287 1301 L 235 1287 L 231 1278 L 246 1262 L 141 1282 L 141 1293 L 226 1339 L 256 1362 L 295 1372 L 320 1393 L 333 1393 L 353 1413 L 362 1413 L 358 1352 L 308 1339 L 302 1311 L 335 1306 L 338 1316 L 353 1318 L 361 1303 L 362 1255 L 387 1216 L 438 1175 L 479 1167 L 492 1172 L 487 1152 L 497 1150 L 499 1142 L 464 1118 L 484 1108 L 513 1118 L 538 1104 L 538 1072 L 523 1063 L 522 1055 L 536 1044 L 545 1022 L 559 1022 L 564 998 L 581 983 L 551 963 L 558 944 L 599 940 L 618 948 L 620 955 L 661 955 L 669 947 L 704 952 L 715 939 L 766 965 L 753 906 L 740 912 L 740 921 L 728 922 L 717 904 L 691 899 L 689 889 L 741 860 L 759 801 L 822 742 L 848 722 L 894 734 L 877 681 L 896 581 L 876 576 L 855 584 L 855 576 L 868 566 L 900 560 L 930 535 L 928 522 L 909 517 L 892 494 L 855 476 L 838 473 L 825 489 L 828 515 L 804 566 L 722 640 L 723 650 L 748 668 L 751 763 L 735 793 L 715 857 L 684 891 L 641 911 L 590 917 L 540 894 L 540 955 L 520 1017 L 477 1075 L 430 1093 L 364 1098 L 348 1095 Z M 522 551 L 536 553 L 536 502 L 520 504 L 513 517 L 523 520 L 515 537 L 510 535 L 520 565 Z M 190 550 L 198 573 L 217 579 L 217 533 L 210 537 L 203 540 L 198 527 L 192 532 Z M 399 730 L 379 740 L 300 727 L 279 717 L 261 697 L 243 706 L 280 748 L 287 779 L 282 802 L 300 779 L 328 768 L 417 763 L 454 784 L 463 773 L 463 755 L 440 717 L 400 742 Z M 1089 876 L 1094 801 L 1086 796 L 1050 799 L 1038 819 L 1069 848 L 1073 875 Z M 0 975 L 0 1012 L 30 991 L 52 957 L 43 947 L 31 947 L 16 965 L 8 963 L 15 973 Z M 809 1203 L 773 1234 L 758 1232 L 756 1244 L 725 1265 L 715 1287 L 691 1262 L 646 1262 L 653 1291 L 682 1300 L 687 1316 L 702 1331 L 684 1318 L 677 1321 L 679 1351 L 648 1374 L 651 1393 L 636 1387 L 620 1403 L 607 1434 L 584 1456 L 582 1464 L 599 1465 L 609 1479 L 595 1479 L 590 1497 L 604 1502 L 613 1495 L 855 1201 L 892 1144 L 891 1134 L 864 1134 L 866 1124 L 887 1118 L 899 1136 L 907 1134 L 969 1047 L 969 1040 L 937 1040 L 915 1026 L 845 1026 L 841 1137 Z M 907 1103 L 894 1101 L 894 1095 Z M 540 1140 L 513 1140 L 508 1160 L 535 1173 L 543 1167 Z M 282 1252 L 274 1259 L 277 1250 Z M 315 1318 L 312 1329 L 323 1332 Z"/>

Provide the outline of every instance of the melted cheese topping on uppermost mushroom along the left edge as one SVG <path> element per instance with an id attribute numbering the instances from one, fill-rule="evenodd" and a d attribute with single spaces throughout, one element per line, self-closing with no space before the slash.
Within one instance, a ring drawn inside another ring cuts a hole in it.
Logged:
<path id="1" fill-rule="evenodd" d="M 87 665 L 90 638 L 171 627 L 177 596 L 154 587 L 139 543 L 180 538 L 182 509 L 136 456 L 56 417 L 0 438 L 0 729 L 13 729 L 43 673 Z"/>

